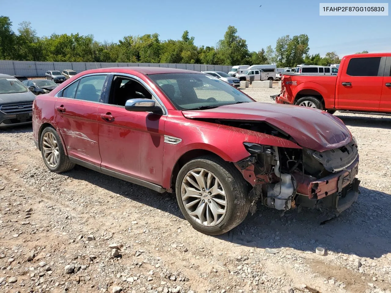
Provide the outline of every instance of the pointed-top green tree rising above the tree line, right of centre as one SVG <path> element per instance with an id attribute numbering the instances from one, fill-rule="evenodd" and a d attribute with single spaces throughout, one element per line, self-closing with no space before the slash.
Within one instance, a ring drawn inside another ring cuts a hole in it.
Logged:
<path id="1" fill-rule="evenodd" d="M 249 56 L 245 39 L 237 35 L 238 30 L 230 25 L 224 38 L 217 43 L 216 61 L 222 65 L 242 64 Z"/>

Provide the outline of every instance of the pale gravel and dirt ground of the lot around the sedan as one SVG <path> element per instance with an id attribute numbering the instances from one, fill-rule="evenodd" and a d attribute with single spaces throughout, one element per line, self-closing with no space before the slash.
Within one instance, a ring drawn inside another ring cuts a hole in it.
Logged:
<path id="1" fill-rule="evenodd" d="M 279 89 L 244 91 L 272 102 Z M 169 193 L 51 173 L 31 127 L 0 130 L 0 292 L 390 293 L 391 118 L 335 115 L 359 144 L 359 200 L 325 225 L 327 211 L 261 206 L 219 237 Z"/>

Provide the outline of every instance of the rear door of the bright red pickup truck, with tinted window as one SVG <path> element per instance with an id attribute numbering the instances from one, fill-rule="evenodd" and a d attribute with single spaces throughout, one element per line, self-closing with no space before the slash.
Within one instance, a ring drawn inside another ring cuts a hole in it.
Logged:
<path id="1" fill-rule="evenodd" d="M 337 84 L 336 105 L 341 110 L 378 111 L 386 57 L 352 57 L 346 60 Z"/>

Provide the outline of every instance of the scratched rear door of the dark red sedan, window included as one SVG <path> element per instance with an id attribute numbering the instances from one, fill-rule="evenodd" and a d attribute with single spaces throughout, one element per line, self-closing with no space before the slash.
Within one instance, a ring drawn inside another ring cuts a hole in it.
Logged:
<path id="1" fill-rule="evenodd" d="M 98 109 L 107 75 L 78 79 L 57 98 L 55 120 L 70 157 L 96 166 L 101 159 L 98 145 Z"/>

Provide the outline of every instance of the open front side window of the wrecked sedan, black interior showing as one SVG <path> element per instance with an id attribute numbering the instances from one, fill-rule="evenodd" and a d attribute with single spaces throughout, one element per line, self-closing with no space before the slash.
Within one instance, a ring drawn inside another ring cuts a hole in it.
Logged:
<path id="1" fill-rule="evenodd" d="M 111 83 L 109 104 L 125 106 L 127 100 L 136 98 L 152 99 L 152 95 L 136 80 L 122 76 L 114 77 L 114 80 Z"/>

